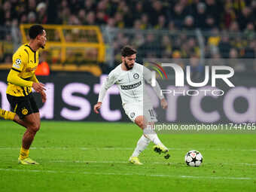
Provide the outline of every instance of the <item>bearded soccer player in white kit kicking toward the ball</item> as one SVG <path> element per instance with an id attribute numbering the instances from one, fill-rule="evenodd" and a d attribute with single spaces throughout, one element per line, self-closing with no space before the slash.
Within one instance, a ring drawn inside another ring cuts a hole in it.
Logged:
<path id="1" fill-rule="evenodd" d="M 160 142 L 157 133 L 151 129 L 157 118 L 154 115 L 150 98 L 144 89 L 145 81 L 151 84 L 151 72 L 136 62 L 136 53 L 136 50 L 130 46 L 123 47 L 121 50 L 122 63 L 109 73 L 108 78 L 102 84 L 98 102 L 94 105 L 94 111 L 99 114 L 98 110 L 101 108 L 105 93 L 109 87 L 116 84 L 120 91 L 125 113 L 143 130 L 142 137 L 129 159 L 130 163 L 142 165 L 138 156 L 150 142 L 154 142 L 154 151 L 159 154 L 166 153 L 168 149 Z M 160 86 L 157 82 L 153 88 L 160 99 L 162 108 L 167 108 L 166 99 L 160 94 Z"/>

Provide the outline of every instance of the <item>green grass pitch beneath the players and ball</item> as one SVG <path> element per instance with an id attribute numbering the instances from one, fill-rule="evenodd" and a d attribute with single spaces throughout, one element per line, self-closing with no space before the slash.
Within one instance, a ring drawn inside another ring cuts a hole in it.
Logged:
<path id="1" fill-rule="evenodd" d="M 17 164 L 23 127 L 0 120 L 0 191 L 256 191 L 256 139 L 246 134 L 161 134 L 171 158 L 128 163 L 142 130 L 133 123 L 43 121 L 30 150 L 37 166 Z M 184 163 L 187 151 L 202 166 Z M 26 190 L 25 190 L 26 189 Z"/>

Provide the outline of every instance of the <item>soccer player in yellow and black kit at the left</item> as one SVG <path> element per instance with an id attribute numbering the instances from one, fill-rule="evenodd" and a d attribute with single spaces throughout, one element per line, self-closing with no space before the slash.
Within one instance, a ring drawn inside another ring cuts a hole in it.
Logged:
<path id="1" fill-rule="evenodd" d="M 39 83 L 35 77 L 35 69 L 38 66 L 38 50 L 44 48 L 47 40 L 46 32 L 40 25 L 31 26 L 29 38 L 29 44 L 23 44 L 14 53 L 13 66 L 8 74 L 6 93 L 11 111 L 0 108 L 0 117 L 14 120 L 26 127 L 18 158 L 18 163 L 25 165 L 38 164 L 29 157 L 30 145 L 40 128 L 40 114 L 32 96 L 32 88 L 41 94 L 43 102 L 46 101 L 44 84 Z"/>

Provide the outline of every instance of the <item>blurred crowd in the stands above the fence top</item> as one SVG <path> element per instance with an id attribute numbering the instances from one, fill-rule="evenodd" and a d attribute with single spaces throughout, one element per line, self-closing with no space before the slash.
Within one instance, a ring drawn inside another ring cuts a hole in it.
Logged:
<path id="1" fill-rule="evenodd" d="M 51 23 L 135 29 L 254 29 L 255 0 L 1 0 L 0 25 Z"/>

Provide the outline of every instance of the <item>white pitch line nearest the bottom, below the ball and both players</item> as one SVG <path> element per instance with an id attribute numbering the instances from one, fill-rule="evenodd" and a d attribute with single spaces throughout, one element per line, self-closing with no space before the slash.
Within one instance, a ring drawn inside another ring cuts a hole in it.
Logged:
<path id="1" fill-rule="evenodd" d="M 66 174 L 83 174 L 83 175 L 140 175 L 148 177 L 166 177 L 166 178 L 192 178 L 192 179 L 221 179 L 221 180 L 256 180 L 256 178 L 244 177 L 212 177 L 212 176 L 190 176 L 190 175 L 157 175 L 157 174 L 144 174 L 144 173 L 117 173 L 117 172 L 65 172 L 54 170 L 37 170 L 37 169 L 0 169 L 5 172 L 46 172 L 46 173 L 66 173 Z"/>

